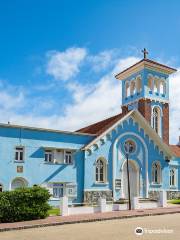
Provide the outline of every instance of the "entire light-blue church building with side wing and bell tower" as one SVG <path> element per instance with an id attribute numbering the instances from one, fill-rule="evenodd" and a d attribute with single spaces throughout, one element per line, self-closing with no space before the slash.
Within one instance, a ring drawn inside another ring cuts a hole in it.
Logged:
<path id="1" fill-rule="evenodd" d="M 116 75 L 122 112 L 76 132 L 0 124 L 0 191 L 41 185 L 58 205 L 180 196 L 180 146 L 169 144 L 169 75 L 175 69 L 149 59 Z M 178 119 L 177 119 L 178 120 Z"/>

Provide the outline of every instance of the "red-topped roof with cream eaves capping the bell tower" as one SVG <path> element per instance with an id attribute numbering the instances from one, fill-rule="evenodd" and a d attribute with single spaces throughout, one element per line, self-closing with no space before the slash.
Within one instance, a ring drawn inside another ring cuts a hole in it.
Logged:
<path id="1" fill-rule="evenodd" d="M 122 72 L 116 74 L 115 78 L 118 80 L 123 80 L 124 78 L 129 77 L 132 73 L 135 73 L 138 70 L 142 70 L 145 67 L 150 69 L 156 69 L 156 71 L 164 72 L 168 75 L 177 71 L 175 68 L 168 67 L 164 64 L 144 58 L 139 62 L 135 63 L 134 65 L 130 66 L 129 68 L 126 68 Z"/>

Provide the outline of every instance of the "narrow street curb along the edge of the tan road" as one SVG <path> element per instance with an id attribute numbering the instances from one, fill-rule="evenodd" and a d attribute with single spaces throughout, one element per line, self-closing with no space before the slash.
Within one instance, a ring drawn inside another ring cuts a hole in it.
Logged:
<path id="1" fill-rule="evenodd" d="M 8 231 L 31 229 L 31 228 L 50 227 L 50 226 L 58 226 L 58 225 L 60 226 L 60 225 L 68 225 L 68 224 L 109 221 L 109 220 L 118 220 L 118 219 L 126 219 L 126 218 L 167 215 L 167 214 L 176 214 L 176 213 L 180 213 L 180 210 L 175 211 L 175 212 L 145 213 L 145 214 L 135 214 L 135 215 L 126 215 L 126 216 L 114 216 L 114 217 L 104 217 L 104 218 L 102 217 L 102 218 L 94 218 L 94 219 L 81 219 L 81 220 L 72 220 L 72 221 L 64 221 L 64 222 L 52 222 L 52 223 L 43 223 L 43 224 L 35 224 L 35 225 L 24 225 L 24 226 L 19 226 L 19 227 L 0 228 L 0 232 L 8 232 Z"/>

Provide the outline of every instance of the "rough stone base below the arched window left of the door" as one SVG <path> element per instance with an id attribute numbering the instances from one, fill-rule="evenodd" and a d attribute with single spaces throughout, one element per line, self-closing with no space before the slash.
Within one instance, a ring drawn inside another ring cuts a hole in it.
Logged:
<path id="1" fill-rule="evenodd" d="M 97 203 L 100 198 L 113 201 L 112 191 L 84 191 L 84 202 L 87 204 Z"/>

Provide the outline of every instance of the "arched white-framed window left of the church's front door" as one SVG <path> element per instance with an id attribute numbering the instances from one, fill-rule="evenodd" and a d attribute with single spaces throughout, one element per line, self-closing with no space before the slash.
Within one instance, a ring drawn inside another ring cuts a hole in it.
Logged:
<path id="1" fill-rule="evenodd" d="M 107 166 L 105 159 L 99 158 L 96 161 L 96 182 L 106 182 Z"/>

